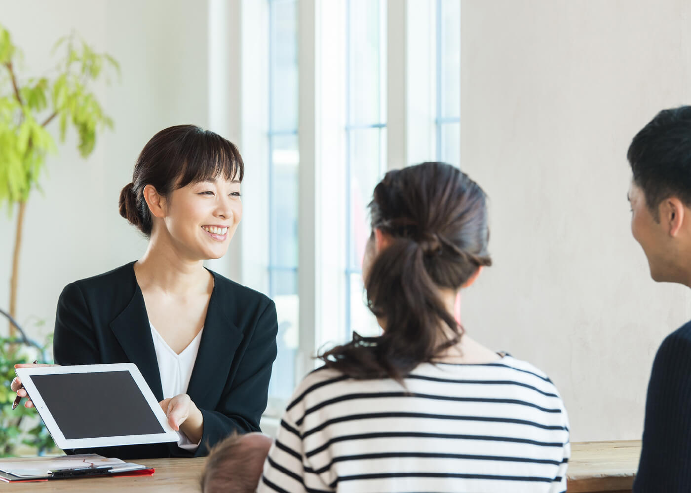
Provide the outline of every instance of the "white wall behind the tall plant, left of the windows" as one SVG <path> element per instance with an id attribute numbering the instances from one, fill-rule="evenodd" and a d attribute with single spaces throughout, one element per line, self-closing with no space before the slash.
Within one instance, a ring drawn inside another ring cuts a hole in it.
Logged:
<path id="1" fill-rule="evenodd" d="M 65 284 L 135 260 L 146 240 L 117 211 L 138 153 L 154 133 L 174 124 L 209 124 L 207 1 L 0 0 L 0 23 L 24 52 L 29 75 L 53 65 L 50 48 L 75 30 L 120 61 L 122 80 L 95 86 L 115 121 L 98 136 L 88 160 L 74 135 L 49 157 L 32 193 L 21 251 L 18 321 L 42 337 L 53 330 Z M 55 128 L 53 128 L 55 131 Z M 54 135 L 56 135 L 55 133 Z M 15 219 L 0 214 L 0 307 L 9 301 Z M 44 320 L 32 327 L 32 320 Z M 1 333 L 6 334 L 4 322 Z"/>

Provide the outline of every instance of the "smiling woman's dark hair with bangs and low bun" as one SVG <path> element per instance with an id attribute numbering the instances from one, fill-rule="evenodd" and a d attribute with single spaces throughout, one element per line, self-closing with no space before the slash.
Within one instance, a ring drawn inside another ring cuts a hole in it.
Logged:
<path id="1" fill-rule="evenodd" d="M 238 148 L 217 133 L 196 125 L 165 128 L 140 153 L 132 182 L 120 191 L 120 215 L 151 235 L 153 220 L 144 200 L 144 187 L 151 185 L 163 197 L 190 183 L 223 177 L 243 181 L 245 164 Z"/>

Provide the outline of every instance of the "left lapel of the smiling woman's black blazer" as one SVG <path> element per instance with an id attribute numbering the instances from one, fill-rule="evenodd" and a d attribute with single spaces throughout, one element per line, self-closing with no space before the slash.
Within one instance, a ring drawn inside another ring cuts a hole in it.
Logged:
<path id="1" fill-rule="evenodd" d="M 122 313 L 111 322 L 111 330 L 127 358 L 137 365 L 153 395 L 160 401 L 163 400 L 163 388 L 158 371 L 158 359 L 151 339 L 149 316 L 146 315 L 142 290 L 136 284 L 136 280 L 134 282 L 134 296 Z"/>

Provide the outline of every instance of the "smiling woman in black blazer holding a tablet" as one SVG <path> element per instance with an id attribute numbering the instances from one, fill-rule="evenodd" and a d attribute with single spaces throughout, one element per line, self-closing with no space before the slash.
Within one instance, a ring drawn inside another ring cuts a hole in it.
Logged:
<path id="1" fill-rule="evenodd" d="M 191 445 L 78 452 L 203 456 L 231 432 L 259 431 L 276 358 L 276 307 L 202 265 L 225 254 L 240 221 L 243 171 L 233 144 L 196 126 L 167 128 L 144 146 L 133 182 L 120 195 L 120 213 L 150 237 L 149 248 L 138 262 L 65 287 L 55 320 L 55 362 L 135 363 L 173 429 Z M 184 394 L 164 395 L 154 327 L 178 355 L 201 332 Z M 15 379 L 12 389 L 19 385 Z M 23 389 L 17 394 L 26 396 Z"/>

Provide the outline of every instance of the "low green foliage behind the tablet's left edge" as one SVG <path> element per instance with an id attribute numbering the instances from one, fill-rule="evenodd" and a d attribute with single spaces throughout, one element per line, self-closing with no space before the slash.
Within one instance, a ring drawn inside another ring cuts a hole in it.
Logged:
<path id="1" fill-rule="evenodd" d="M 52 339 L 49 336 L 46 340 L 44 353 L 53 345 Z M 17 396 L 10 390 L 10 383 L 15 378 L 15 363 L 31 363 L 35 359 L 40 360 L 41 356 L 34 348 L 24 346 L 16 339 L 0 338 L 0 457 L 57 452 L 55 442 L 36 409 L 27 409 L 22 403 L 12 410 Z"/>

